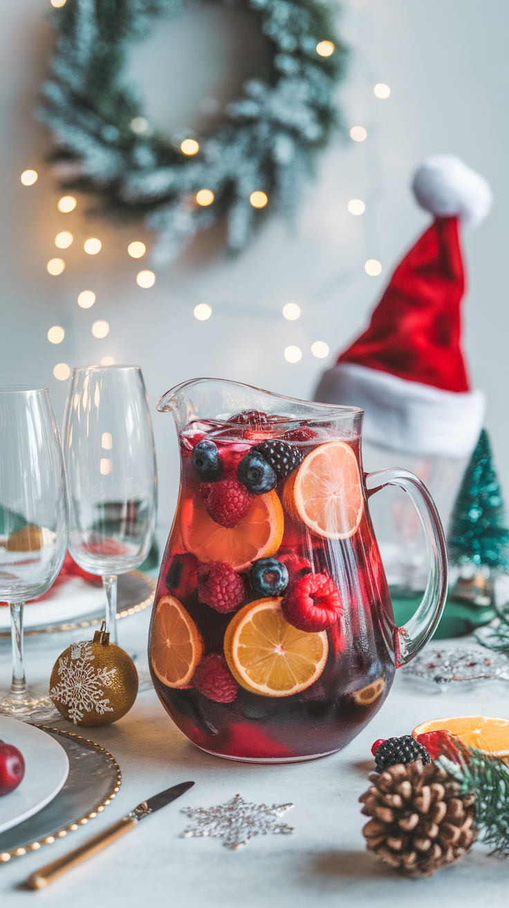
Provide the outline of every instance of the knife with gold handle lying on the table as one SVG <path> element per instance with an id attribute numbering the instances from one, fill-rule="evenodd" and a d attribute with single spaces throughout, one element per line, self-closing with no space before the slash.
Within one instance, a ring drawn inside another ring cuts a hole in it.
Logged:
<path id="1" fill-rule="evenodd" d="M 89 839 L 88 842 L 85 842 L 79 848 L 75 848 L 69 854 L 64 854 L 64 857 L 54 861 L 53 864 L 46 864 L 40 870 L 36 870 L 35 873 L 28 877 L 26 883 L 24 883 L 24 888 L 44 889 L 44 886 L 52 883 L 55 877 L 72 870 L 73 867 L 81 864 L 82 861 L 86 861 L 93 854 L 103 851 L 103 848 L 107 845 L 116 842 L 121 835 L 133 829 L 140 820 L 144 820 L 150 814 L 155 814 L 156 810 L 160 810 L 161 807 L 165 807 L 166 804 L 174 801 L 176 797 L 180 797 L 184 792 L 189 791 L 192 785 L 194 785 L 194 782 L 181 782 L 180 785 L 172 785 L 171 788 L 160 792 L 159 795 L 150 797 L 148 801 L 142 801 L 142 804 L 134 807 L 134 810 L 130 811 L 127 816 L 122 816 L 122 820 L 118 820 L 117 823 L 108 826 L 102 833 L 94 835 L 93 839 Z"/>

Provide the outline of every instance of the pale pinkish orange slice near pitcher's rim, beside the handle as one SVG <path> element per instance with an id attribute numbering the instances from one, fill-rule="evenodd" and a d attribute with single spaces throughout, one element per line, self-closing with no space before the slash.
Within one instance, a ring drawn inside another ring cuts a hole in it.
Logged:
<path id="1" fill-rule="evenodd" d="M 319 445 L 300 464 L 288 494 L 301 520 L 318 536 L 353 536 L 364 510 L 354 451 L 344 441 Z"/>

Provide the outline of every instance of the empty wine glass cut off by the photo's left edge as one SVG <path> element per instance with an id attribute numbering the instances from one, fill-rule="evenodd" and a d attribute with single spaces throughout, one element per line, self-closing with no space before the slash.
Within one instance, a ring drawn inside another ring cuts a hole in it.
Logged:
<path id="1" fill-rule="evenodd" d="M 0 714 L 59 716 L 24 679 L 23 610 L 54 582 L 67 548 L 68 509 L 62 444 L 47 388 L 0 386 L 0 600 L 11 610 L 13 682 Z"/>

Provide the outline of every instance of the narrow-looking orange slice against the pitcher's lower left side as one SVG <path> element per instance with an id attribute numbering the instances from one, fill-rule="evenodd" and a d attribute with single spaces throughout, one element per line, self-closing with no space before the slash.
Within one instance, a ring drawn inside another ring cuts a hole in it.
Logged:
<path id="1" fill-rule="evenodd" d="M 200 631 L 191 616 L 173 596 L 160 599 L 153 619 L 152 668 L 162 684 L 189 684 L 203 655 Z"/>

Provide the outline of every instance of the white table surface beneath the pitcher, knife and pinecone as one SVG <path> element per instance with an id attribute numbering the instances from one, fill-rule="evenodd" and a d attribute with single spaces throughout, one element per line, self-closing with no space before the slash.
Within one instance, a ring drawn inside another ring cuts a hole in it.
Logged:
<path id="1" fill-rule="evenodd" d="M 119 622 L 119 642 L 146 665 L 149 609 Z M 88 634 L 87 634 L 88 636 Z M 81 634 L 83 637 L 83 632 Z M 46 690 L 60 652 L 79 634 L 28 637 L 29 683 Z M 10 651 L 0 647 L 0 691 L 9 683 Z M 122 787 L 103 814 L 61 841 L 0 865 L 0 905 L 91 908 L 144 903 L 158 908 L 429 908 L 506 905 L 509 859 L 490 857 L 475 845 L 470 854 L 433 877 L 399 877 L 367 854 L 361 835 L 367 822 L 358 795 L 367 788 L 370 747 L 377 738 L 409 734 L 436 716 L 484 714 L 509 717 L 508 686 L 489 681 L 469 690 L 432 693 L 399 674 L 386 704 L 370 725 L 336 755 L 293 765 L 250 765 L 204 754 L 181 734 L 153 690 L 141 693 L 131 712 L 114 725 L 84 729 L 106 747 L 122 769 Z M 62 720 L 54 723 L 76 730 Z M 132 833 L 37 893 L 16 887 L 42 864 L 83 843 L 136 804 L 169 785 L 193 779 L 189 793 L 143 820 Z M 208 807 L 240 794 L 259 804 L 295 807 L 282 822 L 292 835 L 259 836 L 231 851 L 219 839 L 183 839 L 191 821 L 185 806 Z"/>

